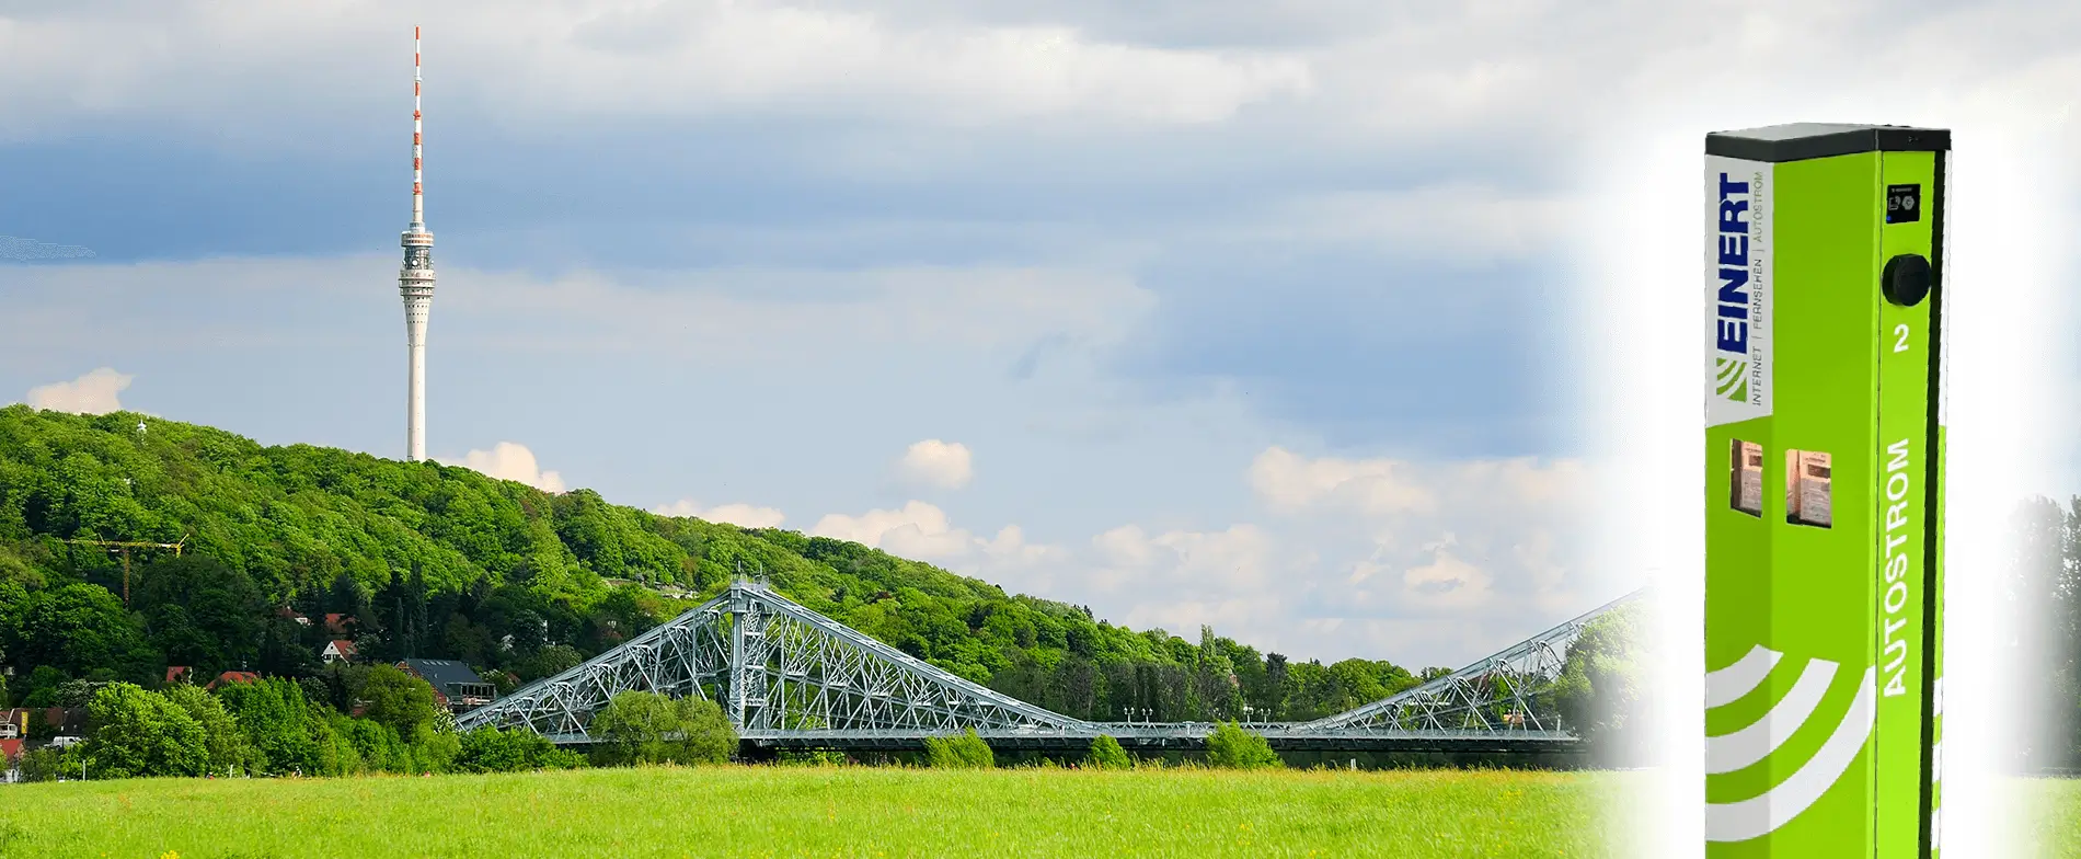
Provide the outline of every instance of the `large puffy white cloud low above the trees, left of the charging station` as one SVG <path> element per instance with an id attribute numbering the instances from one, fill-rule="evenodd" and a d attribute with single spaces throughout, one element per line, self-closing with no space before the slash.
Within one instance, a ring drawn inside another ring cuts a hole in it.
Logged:
<path id="1" fill-rule="evenodd" d="M 970 568 L 1132 626 L 1190 634 L 1213 624 L 1290 655 L 1455 668 L 1636 584 L 1586 564 L 1590 487 L 1573 460 L 1353 460 L 1267 447 L 1240 476 L 1269 520 L 1217 530 L 1122 524 L 1080 549 L 1036 551 L 1020 568 L 988 555 Z"/>

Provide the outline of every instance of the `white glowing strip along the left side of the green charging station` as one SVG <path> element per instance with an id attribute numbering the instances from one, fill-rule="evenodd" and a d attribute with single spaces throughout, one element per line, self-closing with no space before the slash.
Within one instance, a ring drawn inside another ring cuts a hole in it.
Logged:
<path id="1" fill-rule="evenodd" d="M 1586 164 L 1577 393 L 1588 412 L 1584 447 L 1598 464 L 1600 516 L 1594 564 L 1654 587 L 1648 653 L 1659 761 L 1625 803 L 1640 857 L 1704 851 L 1704 385 L 1702 302 L 1704 133 L 1677 123 L 1613 129 L 1604 158 Z M 1623 501 L 1621 501 L 1623 499 Z M 1715 666 L 1719 668 L 1719 666 Z"/>

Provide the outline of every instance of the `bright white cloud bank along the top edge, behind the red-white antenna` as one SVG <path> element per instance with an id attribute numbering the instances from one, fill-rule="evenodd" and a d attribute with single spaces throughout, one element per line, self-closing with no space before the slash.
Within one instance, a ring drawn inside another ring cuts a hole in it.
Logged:
<path id="1" fill-rule="evenodd" d="M 0 17 L 0 133 L 108 114 L 395 106 L 425 21 L 429 110 L 514 125 L 570 114 L 822 110 L 978 125 L 1032 116 L 1215 123 L 1311 87 L 1305 58 L 1095 37 L 1065 23 L 708 2 L 135 2 Z M 221 125 L 221 123 L 219 123 Z M 283 133 L 277 129 L 273 133 Z M 266 125 L 235 133 L 271 133 Z M 439 133 L 439 131 L 433 131 Z"/>

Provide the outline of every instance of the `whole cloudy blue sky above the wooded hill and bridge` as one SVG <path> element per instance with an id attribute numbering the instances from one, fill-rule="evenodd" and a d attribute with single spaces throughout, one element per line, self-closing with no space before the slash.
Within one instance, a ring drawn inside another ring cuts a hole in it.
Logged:
<path id="1" fill-rule="evenodd" d="M 435 458 L 1413 666 L 1650 574 L 1704 131 L 2081 81 L 2050 2 L 418 6 L 0 2 L 0 401 L 402 455 L 420 23 Z"/>

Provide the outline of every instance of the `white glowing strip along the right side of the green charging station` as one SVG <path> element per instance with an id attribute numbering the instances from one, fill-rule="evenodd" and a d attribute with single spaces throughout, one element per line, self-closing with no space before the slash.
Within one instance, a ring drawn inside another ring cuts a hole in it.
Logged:
<path id="1" fill-rule="evenodd" d="M 1979 116 L 1975 116 L 1979 114 Z M 2000 584 L 2014 553 L 2010 514 L 2027 493 L 2071 493 L 2060 426 L 2077 376 L 2060 331 L 2075 287 L 2066 250 L 2071 152 L 2048 112 L 2023 104 L 1969 110 L 1952 133 L 1946 239 L 1946 626 L 1944 851 L 2019 855 L 2037 828 L 2002 784 L 2019 740 L 2044 726 L 2044 684 L 2012 653 L 2019 611 Z M 2060 495 L 2054 495 L 2060 497 Z"/>

